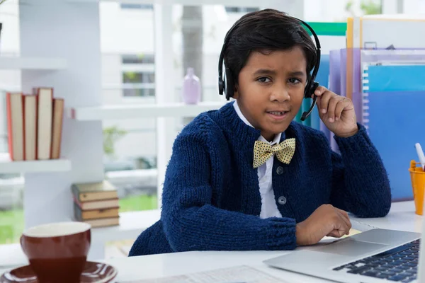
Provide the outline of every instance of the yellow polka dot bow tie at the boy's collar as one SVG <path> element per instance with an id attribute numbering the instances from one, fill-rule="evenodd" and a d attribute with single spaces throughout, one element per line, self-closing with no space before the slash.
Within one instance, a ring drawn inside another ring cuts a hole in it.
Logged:
<path id="1" fill-rule="evenodd" d="M 261 166 L 266 163 L 268 158 L 271 158 L 273 154 L 280 162 L 289 164 L 295 153 L 295 138 L 285 139 L 280 144 L 270 144 L 264 141 L 255 141 L 254 144 L 254 168 Z"/>

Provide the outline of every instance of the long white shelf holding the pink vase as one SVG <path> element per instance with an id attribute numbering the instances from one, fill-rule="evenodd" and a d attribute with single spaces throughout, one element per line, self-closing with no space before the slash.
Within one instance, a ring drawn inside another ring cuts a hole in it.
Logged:
<path id="1" fill-rule="evenodd" d="M 226 101 L 227 102 L 227 101 Z M 196 117 L 201 112 L 216 110 L 225 102 L 199 103 L 185 105 L 174 103 L 169 105 L 104 105 L 98 107 L 71 108 L 67 110 L 68 117 L 79 121 L 118 120 L 152 117 Z"/>

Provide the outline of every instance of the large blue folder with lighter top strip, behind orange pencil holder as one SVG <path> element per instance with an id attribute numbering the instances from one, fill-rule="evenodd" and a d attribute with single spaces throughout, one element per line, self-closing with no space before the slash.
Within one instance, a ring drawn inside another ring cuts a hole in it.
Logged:
<path id="1" fill-rule="evenodd" d="M 409 166 L 414 144 L 425 145 L 425 65 L 370 66 L 368 133 L 390 178 L 393 200 L 412 199 Z"/>

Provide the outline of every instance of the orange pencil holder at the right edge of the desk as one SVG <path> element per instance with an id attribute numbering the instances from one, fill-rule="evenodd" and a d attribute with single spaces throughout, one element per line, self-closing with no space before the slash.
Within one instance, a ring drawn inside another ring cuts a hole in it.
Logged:
<path id="1" fill-rule="evenodd" d="M 410 180 L 412 181 L 415 212 L 418 215 L 423 215 L 425 172 L 421 166 L 421 163 L 417 163 L 414 160 L 410 161 L 409 173 L 410 173 Z"/>

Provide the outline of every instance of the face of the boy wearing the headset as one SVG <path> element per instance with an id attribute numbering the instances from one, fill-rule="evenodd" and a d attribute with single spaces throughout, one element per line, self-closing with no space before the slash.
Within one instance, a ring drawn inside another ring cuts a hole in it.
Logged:
<path id="1" fill-rule="evenodd" d="M 246 119 L 271 141 L 285 132 L 300 110 L 307 82 L 307 61 L 300 47 L 262 54 L 251 52 L 239 72 L 233 98 Z"/>

